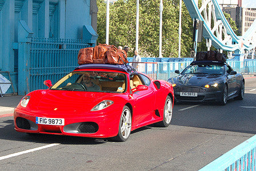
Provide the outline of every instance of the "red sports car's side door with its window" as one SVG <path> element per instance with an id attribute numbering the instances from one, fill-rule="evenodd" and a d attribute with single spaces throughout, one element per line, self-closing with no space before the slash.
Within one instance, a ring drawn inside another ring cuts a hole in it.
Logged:
<path id="1" fill-rule="evenodd" d="M 130 82 L 130 84 L 132 84 L 133 82 L 137 82 L 138 79 L 139 79 L 139 84 L 149 86 L 149 84 L 143 81 L 142 76 L 139 74 L 131 76 L 132 81 Z M 130 85 L 130 87 L 134 88 L 133 85 Z M 134 125 L 141 125 L 143 123 L 150 121 L 153 117 L 152 113 L 153 113 L 153 105 L 155 101 L 154 89 L 149 87 L 146 90 L 131 93 L 131 96 L 135 101 L 134 111 L 133 111 Z"/>

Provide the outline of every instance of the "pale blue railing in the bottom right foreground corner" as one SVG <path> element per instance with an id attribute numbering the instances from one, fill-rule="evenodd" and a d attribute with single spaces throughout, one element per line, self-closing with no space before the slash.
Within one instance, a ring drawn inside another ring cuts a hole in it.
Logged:
<path id="1" fill-rule="evenodd" d="M 223 154 L 199 171 L 255 170 L 256 135 Z"/>

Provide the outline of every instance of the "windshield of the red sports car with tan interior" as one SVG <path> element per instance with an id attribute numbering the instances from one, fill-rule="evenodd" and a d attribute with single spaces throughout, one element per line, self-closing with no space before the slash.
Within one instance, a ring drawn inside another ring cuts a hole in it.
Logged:
<path id="1" fill-rule="evenodd" d="M 74 71 L 50 89 L 90 92 L 125 92 L 126 75 L 118 72 Z"/>

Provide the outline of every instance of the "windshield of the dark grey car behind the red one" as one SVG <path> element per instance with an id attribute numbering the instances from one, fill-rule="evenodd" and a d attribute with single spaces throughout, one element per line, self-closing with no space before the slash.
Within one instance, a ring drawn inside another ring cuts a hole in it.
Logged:
<path id="1" fill-rule="evenodd" d="M 225 71 L 225 67 L 223 65 L 195 64 L 185 68 L 185 70 L 182 71 L 182 74 L 223 75 L 224 71 Z"/>

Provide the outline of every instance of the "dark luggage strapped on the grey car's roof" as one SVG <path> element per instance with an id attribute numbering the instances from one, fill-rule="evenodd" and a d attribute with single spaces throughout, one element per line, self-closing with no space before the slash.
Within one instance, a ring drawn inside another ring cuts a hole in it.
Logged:
<path id="1" fill-rule="evenodd" d="M 206 51 L 206 52 L 197 52 L 195 60 L 214 60 L 226 62 L 227 58 L 225 54 L 222 54 L 218 51 Z"/>

